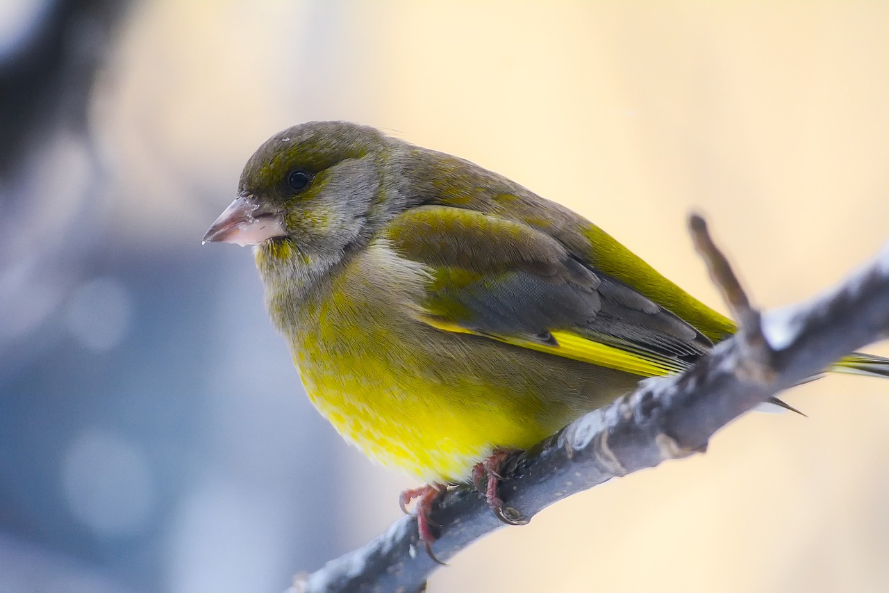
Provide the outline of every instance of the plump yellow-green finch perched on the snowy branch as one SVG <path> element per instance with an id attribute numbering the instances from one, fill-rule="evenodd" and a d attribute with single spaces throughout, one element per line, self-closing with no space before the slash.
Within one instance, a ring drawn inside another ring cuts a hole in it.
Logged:
<path id="1" fill-rule="evenodd" d="M 433 502 L 643 378 L 737 330 L 596 224 L 503 175 L 372 126 L 313 121 L 262 143 L 204 242 L 253 246 L 309 400 Z M 889 377 L 853 353 L 833 370 Z M 773 403 L 789 407 L 783 402 Z M 485 482 L 484 476 L 487 476 Z"/>

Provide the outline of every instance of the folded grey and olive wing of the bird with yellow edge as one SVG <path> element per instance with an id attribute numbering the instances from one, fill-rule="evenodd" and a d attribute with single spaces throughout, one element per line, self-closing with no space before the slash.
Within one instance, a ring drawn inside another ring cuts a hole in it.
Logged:
<path id="1" fill-rule="evenodd" d="M 640 376 L 683 370 L 707 337 L 661 305 L 586 264 L 528 224 L 445 206 L 416 207 L 382 236 L 424 264 L 422 320 Z"/>

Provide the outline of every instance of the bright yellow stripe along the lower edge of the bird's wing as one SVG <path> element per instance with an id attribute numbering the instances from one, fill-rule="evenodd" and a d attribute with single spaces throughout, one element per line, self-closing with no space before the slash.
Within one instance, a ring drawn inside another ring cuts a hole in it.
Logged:
<path id="1" fill-rule="evenodd" d="M 446 321 L 441 318 L 424 315 L 420 318 L 423 322 L 436 329 L 451 331 L 458 334 L 470 334 L 473 336 L 488 337 L 505 344 L 528 348 L 542 353 L 554 354 L 574 361 L 588 362 L 599 367 L 607 367 L 614 370 L 639 375 L 640 377 L 662 377 L 681 372 L 687 368 L 683 361 L 660 356 L 656 353 L 624 349 L 616 345 L 595 342 L 582 337 L 572 331 L 553 331 L 552 337 L 556 344 L 541 344 L 533 340 L 514 336 L 500 336 L 465 328 L 459 323 Z"/>

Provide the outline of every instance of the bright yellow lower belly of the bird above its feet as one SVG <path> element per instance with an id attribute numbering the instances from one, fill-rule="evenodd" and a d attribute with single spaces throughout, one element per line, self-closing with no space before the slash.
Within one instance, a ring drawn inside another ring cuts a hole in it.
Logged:
<path id="1" fill-rule="evenodd" d="M 376 348 L 321 363 L 309 350 L 297 365 L 316 409 L 372 459 L 425 482 L 459 482 L 495 447 L 526 448 L 550 432 L 533 418 L 539 402 L 523 405 L 478 373 L 429 372 L 434 362 L 416 351 L 392 364 Z"/>

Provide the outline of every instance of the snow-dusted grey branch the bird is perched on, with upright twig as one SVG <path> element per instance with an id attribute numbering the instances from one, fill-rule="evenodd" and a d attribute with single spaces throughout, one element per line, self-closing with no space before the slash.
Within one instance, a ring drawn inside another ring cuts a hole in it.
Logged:
<path id="1" fill-rule="evenodd" d="M 648 379 L 511 459 L 501 483 L 510 514 L 530 519 L 613 477 L 705 451 L 710 436 L 734 418 L 887 335 L 889 246 L 828 294 L 761 317 L 703 220 L 693 216 L 690 226 L 711 278 L 741 321 L 738 333 L 685 373 Z M 432 519 L 442 528 L 433 546 L 442 560 L 503 526 L 468 486 L 447 491 Z M 418 543 L 416 519 L 405 516 L 363 548 L 301 576 L 293 589 L 412 592 L 436 568 Z"/>

